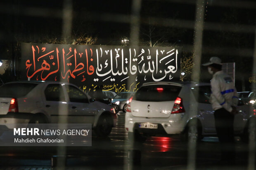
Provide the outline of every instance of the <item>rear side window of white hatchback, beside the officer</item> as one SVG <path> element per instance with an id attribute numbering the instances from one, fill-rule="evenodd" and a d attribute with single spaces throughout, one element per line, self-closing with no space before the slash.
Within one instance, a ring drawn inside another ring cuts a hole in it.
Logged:
<path id="1" fill-rule="evenodd" d="M 197 102 L 207 104 L 210 103 L 211 86 L 197 86 L 191 89 Z"/>

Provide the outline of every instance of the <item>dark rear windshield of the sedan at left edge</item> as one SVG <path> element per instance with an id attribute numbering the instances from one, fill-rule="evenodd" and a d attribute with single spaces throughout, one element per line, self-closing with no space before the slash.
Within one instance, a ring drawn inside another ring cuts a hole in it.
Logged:
<path id="1" fill-rule="evenodd" d="M 27 95 L 38 84 L 35 83 L 8 83 L 0 87 L 0 97 L 19 98 Z"/>

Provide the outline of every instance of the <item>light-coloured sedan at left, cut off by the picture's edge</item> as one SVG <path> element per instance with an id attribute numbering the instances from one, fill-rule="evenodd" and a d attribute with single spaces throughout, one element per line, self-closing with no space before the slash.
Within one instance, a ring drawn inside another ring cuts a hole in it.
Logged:
<path id="1" fill-rule="evenodd" d="M 64 82 L 6 83 L 0 87 L 0 108 L 5 128 L 10 123 L 58 123 L 61 118 L 63 123 L 91 123 L 98 136 L 107 136 L 116 125 L 113 107 Z"/>

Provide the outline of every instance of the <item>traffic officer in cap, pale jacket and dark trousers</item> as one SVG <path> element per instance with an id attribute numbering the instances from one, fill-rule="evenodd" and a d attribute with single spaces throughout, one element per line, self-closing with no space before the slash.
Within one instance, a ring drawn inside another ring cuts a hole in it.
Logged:
<path id="1" fill-rule="evenodd" d="M 219 163 L 232 164 L 235 162 L 234 116 L 237 113 L 237 90 L 233 79 L 222 71 L 220 58 L 211 57 L 203 65 L 213 75 L 210 102 L 215 111 L 216 132 L 221 146 Z"/>

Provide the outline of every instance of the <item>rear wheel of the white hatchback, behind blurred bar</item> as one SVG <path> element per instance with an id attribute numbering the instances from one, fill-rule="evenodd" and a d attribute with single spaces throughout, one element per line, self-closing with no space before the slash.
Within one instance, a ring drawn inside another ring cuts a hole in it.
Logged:
<path id="1" fill-rule="evenodd" d="M 202 137 L 202 128 L 199 125 L 198 121 L 190 121 L 187 123 L 187 127 L 184 132 L 181 134 L 181 139 L 186 142 L 196 142 L 200 141 Z"/>

